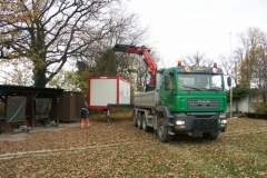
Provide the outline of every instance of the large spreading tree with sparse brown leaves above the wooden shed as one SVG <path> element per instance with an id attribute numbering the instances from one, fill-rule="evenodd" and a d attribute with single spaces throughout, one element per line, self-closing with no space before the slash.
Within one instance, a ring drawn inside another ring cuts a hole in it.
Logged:
<path id="1" fill-rule="evenodd" d="M 102 39 L 110 21 L 108 7 L 117 0 L 1 0 L 2 59 L 32 63 L 36 87 L 44 87 L 65 66 Z"/>

